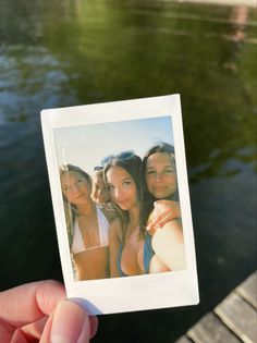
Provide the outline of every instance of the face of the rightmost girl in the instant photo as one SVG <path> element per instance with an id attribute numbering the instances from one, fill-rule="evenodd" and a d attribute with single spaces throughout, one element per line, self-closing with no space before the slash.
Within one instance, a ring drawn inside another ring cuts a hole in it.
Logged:
<path id="1" fill-rule="evenodd" d="M 146 184 L 149 193 L 157 199 L 168 198 L 176 192 L 174 159 L 167 152 L 155 152 L 146 162 Z"/>

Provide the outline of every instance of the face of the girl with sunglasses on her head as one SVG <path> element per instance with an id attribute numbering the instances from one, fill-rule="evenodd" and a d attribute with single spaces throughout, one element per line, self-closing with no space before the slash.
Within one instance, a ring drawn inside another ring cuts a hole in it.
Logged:
<path id="1" fill-rule="evenodd" d="M 123 210 L 136 207 L 137 191 L 132 175 L 119 166 L 110 167 L 106 175 L 112 201 Z"/>

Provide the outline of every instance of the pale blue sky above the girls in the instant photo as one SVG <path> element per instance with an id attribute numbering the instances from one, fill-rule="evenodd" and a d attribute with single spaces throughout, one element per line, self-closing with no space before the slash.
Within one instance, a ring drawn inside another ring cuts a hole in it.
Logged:
<path id="1" fill-rule="evenodd" d="M 172 132 L 171 117 L 56 128 L 59 166 L 74 164 L 93 174 L 109 155 L 133 150 L 143 158 L 157 143 L 173 145 Z"/>

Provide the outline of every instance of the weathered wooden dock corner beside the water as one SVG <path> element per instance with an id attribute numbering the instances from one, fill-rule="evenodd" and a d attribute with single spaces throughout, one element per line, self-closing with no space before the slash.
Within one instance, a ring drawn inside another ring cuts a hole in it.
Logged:
<path id="1" fill-rule="evenodd" d="M 257 343 L 257 271 L 175 343 Z"/>

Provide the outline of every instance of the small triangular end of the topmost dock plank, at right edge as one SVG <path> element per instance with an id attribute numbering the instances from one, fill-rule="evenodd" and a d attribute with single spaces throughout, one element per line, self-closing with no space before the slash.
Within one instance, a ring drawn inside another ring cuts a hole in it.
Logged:
<path id="1" fill-rule="evenodd" d="M 257 271 L 249 275 L 235 291 L 257 309 Z"/>

